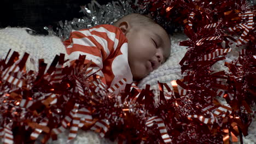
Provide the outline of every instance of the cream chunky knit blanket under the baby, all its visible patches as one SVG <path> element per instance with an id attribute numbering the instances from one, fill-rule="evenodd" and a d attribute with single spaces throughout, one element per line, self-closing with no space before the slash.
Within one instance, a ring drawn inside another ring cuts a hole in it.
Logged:
<path id="1" fill-rule="evenodd" d="M 182 33 L 174 34 L 171 37 L 171 56 L 168 58 L 167 62 L 161 65 L 159 69 L 156 69 L 147 77 L 145 77 L 140 83 L 139 87 L 144 88 L 146 84 L 151 85 L 152 89 L 158 89 L 158 81 L 170 83 L 172 80 L 181 79 L 181 66 L 179 61 L 183 58 L 186 47 L 179 46 L 179 42 L 186 40 L 187 37 Z M 44 58 L 45 62 L 50 65 L 53 61 L 55 55 L 60 53 L 66 53 L 65 47 L 61 43 L 61 40 L 55 36 L 40 36 L 31 35 L 26 32 L 25 28 L 5 28 L 0 29 L 0 58 L 4 58 L 9 49 L 13 51 L 18 51 L 21 56 L 24 52 L 30 53 L 31 58 L 36 60 L 39 58 Z M 236 51 L 230 52 L 226 57 L 225 61 L 232 61 L 232 59 L 238 56 Z M 36 65 L 35 65 L 36 64 Z M 27 62 L 27 69 L 37 70 L 37 63 L 31 61 Z M 227 70 L 224 67 L 224 61 L 218 62 L 214 65 L 215 70 Z M 156 92 L 157 93 L 157 92 Z M 256 143 L 256 119 L 254 118 L 253 123 L 249 127 L 249 135 L 243 138 L 243 142 L 247 144 Z M 58 140 L 49 140 L 48 143 L 67 143 L 68 131 L 58 135 Z M 112 142 L 107 139 L 101 139 L 98 134 L 92 131 L 82 131 L 80 130 L 78 136 L 68 143 L 117 143 L 117 141 Z"/>

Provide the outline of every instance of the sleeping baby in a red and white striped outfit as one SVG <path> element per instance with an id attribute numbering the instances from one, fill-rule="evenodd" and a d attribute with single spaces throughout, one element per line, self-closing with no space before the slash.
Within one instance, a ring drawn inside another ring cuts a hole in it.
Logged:
<path id="1" fill-rule="evenodd" d="M 143 79 L 166 61 L 171 49 L 165 29 L 140 14 L 126 15 L 114 26 L 72 31 L 63 44 L 71 62 L 86 55 L 84 63 L 92 61 L 90 74 L 97 72 L 108 87 L 124 78 L 126 83 Z"/>

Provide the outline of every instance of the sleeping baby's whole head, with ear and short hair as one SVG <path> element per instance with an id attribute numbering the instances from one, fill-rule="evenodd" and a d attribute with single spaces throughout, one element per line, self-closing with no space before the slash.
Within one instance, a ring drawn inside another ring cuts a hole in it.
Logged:
<path id="1" fill-rule="evenodd" d="M 170 55 L 171 41 L 167 32 L 149 17 L 129 14 L 114 26 L 119 27 L 128 40 L 128 61 L 133 80 L 146 77 Z"/>

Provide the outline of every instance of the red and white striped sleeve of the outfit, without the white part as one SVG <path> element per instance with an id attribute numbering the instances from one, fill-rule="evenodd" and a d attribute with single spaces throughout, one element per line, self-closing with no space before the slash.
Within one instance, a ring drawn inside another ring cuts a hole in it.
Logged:
<path id="1" fill-rule="evenodd" d="M 111 25 L 99 25 L 89 29 L 72 31 L 69 39 L 63 42 L 66 47 L 69 62 L 74 62 L 79 55 L 86 55 L 85 64 L 92 61 L 90 74 L 95 73 L 101 77 L 105 84 L 102 69 L 111 69 L 111 65 L 103 65 L 112 54 L 120 47 L 120 30 Z M 107 68 L 109 67 L 109 68 Z M 89 75 L 90 75 L 89 74 Z"/>

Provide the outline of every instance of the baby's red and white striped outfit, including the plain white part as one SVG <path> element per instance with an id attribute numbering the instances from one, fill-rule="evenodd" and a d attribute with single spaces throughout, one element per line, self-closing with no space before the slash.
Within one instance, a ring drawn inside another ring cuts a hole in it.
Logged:
<path id="1" fill-rule="evenodd" d="M 99 25 L 72 31 L 69 39 L 63 44 L 71 62 L 78 59 L 79 55 L 86 55 L 84 63 L 92 61 L 93 70 L 90 74 L 100 69 L 96 74 L 108 87 L 124 78 L 127 83 L 132 83 L 127 39 L 118 27 Z"/>

